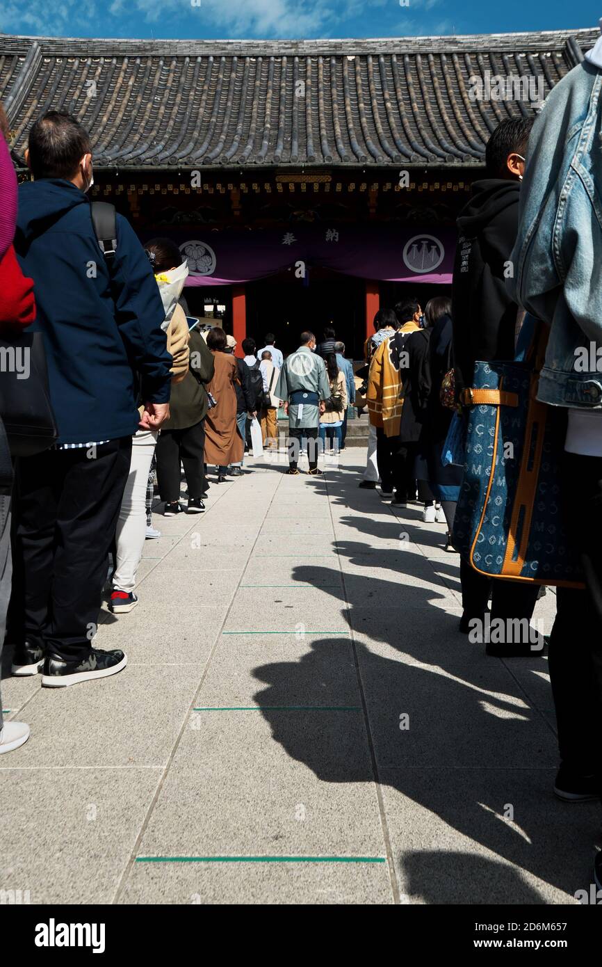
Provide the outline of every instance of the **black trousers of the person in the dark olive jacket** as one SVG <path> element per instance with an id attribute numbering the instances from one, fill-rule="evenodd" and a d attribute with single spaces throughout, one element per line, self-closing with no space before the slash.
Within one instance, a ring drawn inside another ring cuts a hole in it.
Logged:
<path id="1" fill-rule="evenodd" d="M 205 492 L 205 421 L 186 429 L 162 429 L 157 441 L 157 483 L 161 500 L 180 500 L 180 463 L 184 466 L 188 497 Z"/>

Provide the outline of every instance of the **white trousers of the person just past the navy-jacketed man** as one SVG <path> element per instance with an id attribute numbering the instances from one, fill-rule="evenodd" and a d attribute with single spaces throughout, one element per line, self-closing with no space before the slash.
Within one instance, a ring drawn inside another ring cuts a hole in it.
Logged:
<path id="1" fill-rule="evenodd" d="M 121 502 L 115 539 L 117 560 L 113 590 L 130 594 L 146 540 L 146 485 L 157 445 L 156 430 L 138 430 L 131 438 L 129 477 Z"/>

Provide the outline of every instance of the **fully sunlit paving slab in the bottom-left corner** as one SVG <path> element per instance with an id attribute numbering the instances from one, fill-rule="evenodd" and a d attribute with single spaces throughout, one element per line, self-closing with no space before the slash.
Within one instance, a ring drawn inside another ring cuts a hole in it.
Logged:
<path id="1" fill-rule="evenodd" d="M 11 821 L 2 833 L 0 890 L 28 890 L 32 904 L 52 907 L 112 903 L 160 775 L 2 769 L 0 796 Z"/>

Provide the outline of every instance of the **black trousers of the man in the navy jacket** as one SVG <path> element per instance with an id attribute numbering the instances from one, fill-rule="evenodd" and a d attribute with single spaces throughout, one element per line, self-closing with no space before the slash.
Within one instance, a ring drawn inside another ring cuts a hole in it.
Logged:
<path id="1" fill-rule="evenodd" d="M 18 461 L 11 636 L 84 659 L 99 620 L 109 548 L 129 474 L 131 437 Z"/>

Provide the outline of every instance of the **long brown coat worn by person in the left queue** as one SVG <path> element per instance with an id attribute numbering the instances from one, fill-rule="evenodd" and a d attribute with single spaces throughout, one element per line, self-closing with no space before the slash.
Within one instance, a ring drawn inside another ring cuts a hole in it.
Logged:
<path id="1" fill-rule="evenodd" d="M 212 350 L 213 351 L 213 350 Z M 227 467 L 243 459 L 244 442 L 236 424 L 238 365 L 234 356 L 214 352 L 214 378 L 207 387 L 217 401 L 205 419 L 205 460 Z"/>

